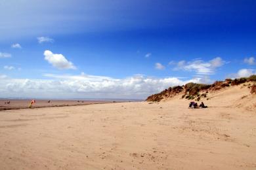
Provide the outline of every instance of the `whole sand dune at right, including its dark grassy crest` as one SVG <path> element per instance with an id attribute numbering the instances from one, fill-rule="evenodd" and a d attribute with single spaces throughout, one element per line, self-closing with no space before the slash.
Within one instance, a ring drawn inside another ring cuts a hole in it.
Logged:
<path id="1" fill-rule="evenodd" d="M 248 78 L 226 79 L 211 85 L 191 82 L 185 86 L 179 86 L 178 91 L 174 91 L 175 88 L 150 95 L 146 101 L 169 101 L 172 103 L 203 101 L 211 107 L 244 108 L 246 110 L 254 110 L 256 107 L 255 81 L 248 80 Z"/>

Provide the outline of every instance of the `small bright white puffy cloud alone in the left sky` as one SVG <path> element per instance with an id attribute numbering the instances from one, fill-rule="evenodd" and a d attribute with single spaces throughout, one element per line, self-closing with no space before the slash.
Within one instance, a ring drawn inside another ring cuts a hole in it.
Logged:
<path id="1" fill-rule="evenodd" d="M 62 54 L 53 54 L 53 52 L 45 50 L 43 55 L 45 56 L 45 60 L 57 69 L 76 69 L 73 63 L 68 61 Z"/>

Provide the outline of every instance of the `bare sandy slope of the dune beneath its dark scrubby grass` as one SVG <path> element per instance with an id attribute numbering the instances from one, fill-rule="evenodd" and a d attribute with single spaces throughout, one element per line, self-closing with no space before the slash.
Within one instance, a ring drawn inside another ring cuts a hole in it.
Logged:
<path id="1" fill-rule="evenodd" d="M 240 84 L 238 86 L 230 86 L 229 88 L 222 88 L 217 91 L 209 91 L 206 97 L 200 98 L 198 104 L 203 101 L 205 105 L 210 108 L 240 108 L 242 110 L 253 111 L 256 109 L 256 95 L 255 93 L 251 93 L 254 85 L 246 82 L 244 84 Z M 200 96 L 202 95 L 200 94 Z M 169 103 L 169 105 L 187 105 L 190 101 L 194 101 L 194 99 L 184 99 L 184 94 L 179 93 L 173 97 L 166 97 L 162 99 L 160 103 Z"/>

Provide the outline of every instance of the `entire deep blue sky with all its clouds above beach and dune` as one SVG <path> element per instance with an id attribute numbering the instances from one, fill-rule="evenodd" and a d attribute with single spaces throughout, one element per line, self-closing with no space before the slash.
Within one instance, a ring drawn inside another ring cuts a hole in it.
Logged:
<path id="1" fill-rule="evenodd" d="M 1 1 L 0 97 L 144 99 L 255 74 L 256 1 Z"/>

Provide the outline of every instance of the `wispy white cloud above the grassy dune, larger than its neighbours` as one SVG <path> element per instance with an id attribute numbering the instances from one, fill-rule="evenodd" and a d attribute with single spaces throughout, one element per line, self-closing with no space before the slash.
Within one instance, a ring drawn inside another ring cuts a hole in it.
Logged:
<path id="1" fill-rule="evenodd" d="M 182 60 L 177 63 L 175 70 L 195 71 L 197 75 L 213 75 L 217 67 L 221 67 L 223 64 L 223 59 L 219 57 L 207 62 L 201 59 L 188 62 Z"/>

